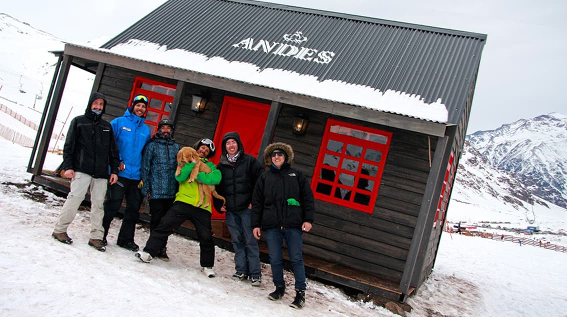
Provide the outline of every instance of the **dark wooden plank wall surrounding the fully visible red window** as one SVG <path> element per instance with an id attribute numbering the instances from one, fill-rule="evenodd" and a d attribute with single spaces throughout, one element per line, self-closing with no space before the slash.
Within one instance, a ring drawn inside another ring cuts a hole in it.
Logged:
<path id="1" fill-rule="evenodd" d="M 297 113 L 309 119 L 304 136 L 291 133 Z M 304 235 L 304 253 L 400 281 L 429 173 L 428 137 L 284 105 L 273 141 L 293 146 L 294 167 L 310 180 L 329 117 L 392 132 L 392 141 L 373 214 L 317 200 L 315 226 Z M 431 141 L 435 146 L 437 140 Z"/>

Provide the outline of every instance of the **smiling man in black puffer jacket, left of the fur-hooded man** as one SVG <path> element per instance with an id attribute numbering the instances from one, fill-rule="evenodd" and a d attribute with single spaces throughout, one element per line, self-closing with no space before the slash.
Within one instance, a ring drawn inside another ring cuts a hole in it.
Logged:
<path id="1" fill-rule="evenodd" d="M 217 192 L 226 198 L 221 212 L 226 213 L 226 226 L 229 228 L 234 248 L 234 280 L 246 280 L 252 286 L 262 282 L 260 270 L 260 250 L 250 227 L 252 191 L 256 179 L 264 172 L 261 164 L 252 155 L 244 153 L 238 132 L 228 132 L 222 138 L 222 155 L 217 169 L 222 180 Z"/>

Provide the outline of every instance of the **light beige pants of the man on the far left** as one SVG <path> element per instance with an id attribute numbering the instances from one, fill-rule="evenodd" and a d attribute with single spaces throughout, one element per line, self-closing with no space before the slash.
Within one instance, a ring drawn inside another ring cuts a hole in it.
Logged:
<path id="1" fill-rule="evenodd" d="M 63 208 L 57 223 L 55 224 L 54 233 L 66 233 L 67 227 L 75 219 L 77 210 L 84 200 L 87 190 L 90 188 L 91 195 L 91 234 L 90 238 L 100 240 L 103 238 L 103 203 L 104 193 L 107 191 L 108 179 L 94 178 L 91 175 L 82 172 L 75 172 L 75 177 L 71 179 L 71 188 L 67 200 L 63 204 Z"/>

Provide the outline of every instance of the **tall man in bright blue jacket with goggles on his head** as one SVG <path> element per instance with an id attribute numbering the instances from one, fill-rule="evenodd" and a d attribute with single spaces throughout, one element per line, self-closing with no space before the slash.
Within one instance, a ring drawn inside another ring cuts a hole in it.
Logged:
<path id="1" fill-rule="evenodd" d="M 132 100 L 132 105 L 126 109 L 124 116 L 110 122 L 120 151 L 120 166 L 118 181 L 108 188 L 107 200 L 104 202 L 103 243 L 107 244 L 110 223 L 120 209 L 122 198 L 126 196 L 126 209 L 116 244 L 134 252 L 139 250 L 134 242 L 134 231 L 139 218 L 138 210 L 143 200 L 138 188 L 142 179 L 140 175 L 142 151 L 151 137 L 150 128 L 144 124 L 147 103 L 146 96 L 137 95 Z"/>

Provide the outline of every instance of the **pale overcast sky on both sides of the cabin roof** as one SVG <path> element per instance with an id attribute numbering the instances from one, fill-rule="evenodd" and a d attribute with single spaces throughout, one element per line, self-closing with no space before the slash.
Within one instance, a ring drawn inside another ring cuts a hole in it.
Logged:
<path id="1" fill-rule="evenodd" d="M 63 40 L 118 35 L 163 0 L 9 1 L 0 12 Z M 292 6 L 458 29 L 488 35 L 468 133 L 567 114 L 567 1 L 272 0 Z"/>

